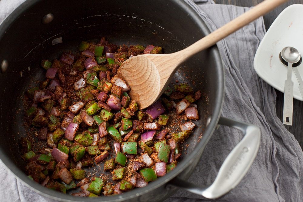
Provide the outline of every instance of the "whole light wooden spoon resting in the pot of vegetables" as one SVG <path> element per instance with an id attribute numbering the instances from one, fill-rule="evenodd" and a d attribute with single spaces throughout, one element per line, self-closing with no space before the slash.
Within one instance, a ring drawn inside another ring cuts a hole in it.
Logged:
<path id="1" fill-rule="evenodd" d="M 137 102 L 138 108 L 147 108 L 161 96 L 181 63 L 287 1 L 265 0 L 181 51 L 129 58 L 122 63 L 117 75 L 130 86 L 129 96 Z"/>

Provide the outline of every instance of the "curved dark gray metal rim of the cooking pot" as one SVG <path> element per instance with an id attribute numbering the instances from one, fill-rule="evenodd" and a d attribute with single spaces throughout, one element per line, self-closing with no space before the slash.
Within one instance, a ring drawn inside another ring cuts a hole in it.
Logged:
<path id="1" fill-rule="evenodd" d="M 0 24 L 0 40 L 2 39 L 2 36 L 5 34 L 5 30 L 9 28 L 9 26 L 18 18 L 20 13 L 25 12 L 28 8 L 30 8 L 32 5 L 38 3 L 42 0 L 26 0 L 21 5 L 18 6 L 11 14 L 5 18 L 5 20 Z M 178 1 L 178 0 L 170 0 L 172 4 L 181 7 L 181 9 L 184 9 L 186 12 L 188 12 L 188 15 L 192 18 L 192 21 L 196 22 L 197 25 L 201 28 L 202 32 L 205 34 L 209 34 L 210 31 L 207 28 L 207 25 L 201 18 L 201 16 L 195 12 L 193 8 L 191 8 L 190 5 L 188 5 L 185 1 Z M 170 171 L 165 176 L 159 178 L 158 180 L 149 183 L 146 187 L 142 187 L 140 189 L 134 189 L 128 192 L 125 192 L 121 195 L 113 195 L 113 196 L 100 196 L 97 198 L 83 198 L 83 197 L 75 197 L 72 195 L 66 195 L 61 192 L 51 190 L 46 187 L 42 187 L 41 184 L 38 184 L 34 182 L 33 180 L 29 179 L 25 173 L 23 173 L 13 161 L 11 161 L 3 152 L 0 152 L 0 160 L 4 163 L 5 167 L 11 171 L 11 173 L 20 181 L 22 181 L 23 184 L 25 184 L 28 188 L 34 190 L 38 194 L 42 195 L 42 197 L 47 197 L 49 199 L 58 200 L 58 201 L 123 201 L 123 200 L 129 200 L 132 198 L 139 197 L 143 194 L 146 194 L 152 190 L 157 189 L 158 187 L 161 187 L 165 184 L 167 184 L 171 179 L 175 178 L 178 174 L 180 174 L 182 171 L 184 171 L 188 165 L 190 165 L 194 160 L 196 155 L 202 153 L 202 151 L 205 148 L 205 145 L 209 141 L 211 135 L 215 131 L 215 128 L 218 124 L 218 120 L 220 118 L 222 106 L 223 106 L 223 99 L 224 99 L 224 69 L 222 65 L 222 59 L 218 50 L 217 45 L 214 45 L 211 47 L 212 53 L 215 55 L 215 58 L 217 59 L 216 66 L 218 67 L 218 86 L 219 88 L 216 91 L 216 100 L 214 100 L 214 110 L 213 114 L 210 114 L 211 120 L 208 124 L 208 126 L 205 128 L 203 137 L 201 138 L 200 142 L 196 145 L 195 149 L 191 152 L 191 154 L 188 155 L 188 157 L 181 162 L 178 163 L 178 166 Z M 2 148 L 0 148 L 2 150 Z M 138 190 L 140 190 L 138 192 Z"/>

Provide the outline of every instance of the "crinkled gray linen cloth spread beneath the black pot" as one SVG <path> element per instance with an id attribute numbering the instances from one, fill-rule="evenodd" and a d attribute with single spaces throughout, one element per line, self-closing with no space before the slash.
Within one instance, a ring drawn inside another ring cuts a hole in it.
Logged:
<path id="1" fill-rule="evenodd" d="M 0 22 L 24 0 L 1 0 Z M 185 0 L 201 15 L 211 31 L 249 8 L 214 5 L 212 1 Z M 225 100 L 222 115 L 252 123 L 261 129 L 257 157 L 240 184 L 218 201 L 303 201 L 303 153 L 294 136 L 276 116 L 275 90 L 253 69 L 253 59 L 265 34 L 263 18 L 217 43 L 225 68 Z M 211 184 L 225 157 L 242 134 L 221 126 L 205 148 L 198 167 L 189 178 L 195 184 Z M 45 201 L 10 174 L 0 162 L 0 201 Z M 3 193 L 3 192 L 2 192 Z M 204 201 L 201 196 L 179 190 L 166 201 Z M 208 201 L 208 200 L 205 200 Z M 211 201 L 211 200 L 210 200 Z"/>

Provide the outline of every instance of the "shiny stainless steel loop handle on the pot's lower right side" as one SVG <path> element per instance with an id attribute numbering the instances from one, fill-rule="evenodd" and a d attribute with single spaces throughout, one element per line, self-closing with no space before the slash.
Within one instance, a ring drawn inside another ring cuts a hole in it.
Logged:
<path id="1" fill-rule="evenodd" d="M 169 182 L 168 186 L 183 188 L 205 198 L 215 199 L 235 188 L 242 180 L 259 150 L 261 131 L 255 125 L 224 117 L 220 117 L 218 124 L 239 129 L 244 137 L 228 154 L 215 181 L 209 186 L 202 187 L 176 177 Z"/>

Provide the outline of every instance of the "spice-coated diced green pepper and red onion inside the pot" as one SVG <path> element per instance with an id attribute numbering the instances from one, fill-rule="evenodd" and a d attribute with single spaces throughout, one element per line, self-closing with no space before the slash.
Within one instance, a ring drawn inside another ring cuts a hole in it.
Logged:
<path id="1" fill-rule="evenodd" d="M 162 48 L 118 47 L 102 38 L 97 44 L 82 41 L 78 49 L 43 60 L 46 80 L 27 91 L 32 101 L 27 123 L 38 129 L 42 145 L 34 148 L 27 136 L 21 139 L 28 177 L 63 193 L 81 187 L 73 195 L 96 197 L 144 187 L 174 169 L 181 143 L 195 127 L 191 119 L 199 118 L 193 103 L 201 92 L 177 83 L 139 111 L 117 70 L 130 57 L 159 54 Z M 176 124 L 179 131 L 173 132 Z M 83 169 L 98 164 L 102 176 Z"/>

